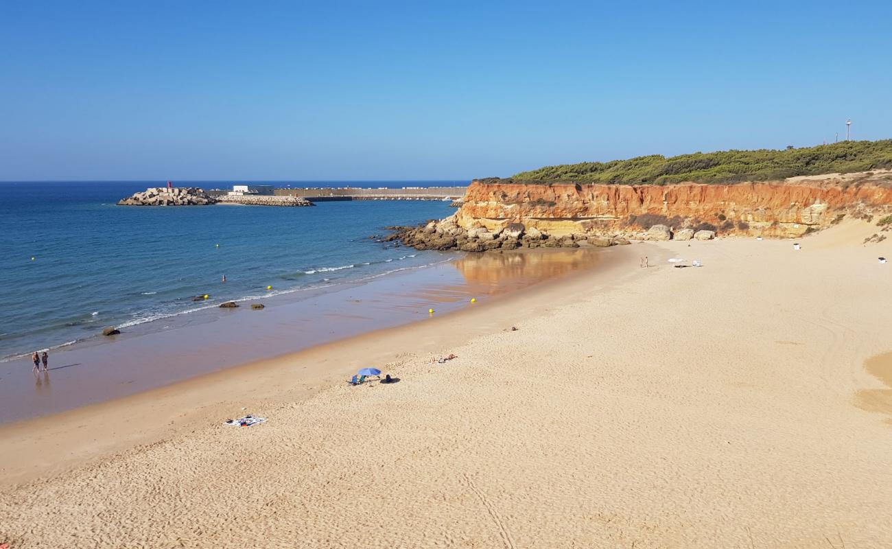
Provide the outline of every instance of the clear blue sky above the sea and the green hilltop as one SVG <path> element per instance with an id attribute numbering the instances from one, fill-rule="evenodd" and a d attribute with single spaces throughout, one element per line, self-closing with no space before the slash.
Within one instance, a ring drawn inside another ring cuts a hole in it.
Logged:
<path id="1" fill-rule="evenodd" d="M 729 4 L 729 5 L 723 5 Z M 471 179 L 892 137 L 884 2 L 0 3 L 0 179 Z"/>

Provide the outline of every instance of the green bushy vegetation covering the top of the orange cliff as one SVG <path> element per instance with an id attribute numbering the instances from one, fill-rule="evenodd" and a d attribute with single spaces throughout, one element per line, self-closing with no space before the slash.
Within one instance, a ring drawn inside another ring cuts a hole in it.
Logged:
<path id="1" fill-rule="evenodd" d="M 671 158 L 652 154 L 629 160 L 547 166 L 523 171 L 512 179 L 533 183 L 566 181 L 624 185 L 666 185 L 682 181 L 738 183 L 884 168 L 892 168 L 892 139 L 843 141 L 798 149 L 789 147 L 780 151 L 761 149 L 681 154 Z"/>

